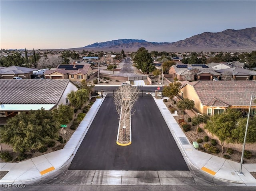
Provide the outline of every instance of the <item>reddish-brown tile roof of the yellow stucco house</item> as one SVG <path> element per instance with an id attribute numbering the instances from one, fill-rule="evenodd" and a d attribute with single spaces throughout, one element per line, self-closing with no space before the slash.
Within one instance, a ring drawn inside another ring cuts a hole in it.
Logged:
<path id="1" fill-rule="evenodd" d="M 195 81 L 187 85 L 194 87 L 205 106 L 249 106 L 251 96 L 256 96 L 256 81 Z"/>

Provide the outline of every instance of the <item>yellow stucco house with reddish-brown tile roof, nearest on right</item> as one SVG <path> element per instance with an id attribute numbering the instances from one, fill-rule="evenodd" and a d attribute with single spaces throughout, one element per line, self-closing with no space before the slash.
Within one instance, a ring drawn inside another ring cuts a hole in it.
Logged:
<path id="1" fill-rule="evenodd" d="M 182 85 L 178 96 L 194 100 L 196 112 L 212 116 L 227 108 L 247 114 L 252 95 L 256 96 L 256 81 L 194 81 Z M 250 115 L 256 116 L 254 102 Z"/>

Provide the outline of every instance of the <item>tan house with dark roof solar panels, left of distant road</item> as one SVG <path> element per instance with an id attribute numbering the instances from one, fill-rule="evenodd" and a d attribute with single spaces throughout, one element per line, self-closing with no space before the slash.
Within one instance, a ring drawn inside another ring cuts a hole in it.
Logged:
<path id="1" fill-rule="evenodd" d="M 70 79 L 71 81 L 87 80 L 93 74 L 90 64 L 60 64 L 56 69 L 45 71 L 46 79 Z"/>

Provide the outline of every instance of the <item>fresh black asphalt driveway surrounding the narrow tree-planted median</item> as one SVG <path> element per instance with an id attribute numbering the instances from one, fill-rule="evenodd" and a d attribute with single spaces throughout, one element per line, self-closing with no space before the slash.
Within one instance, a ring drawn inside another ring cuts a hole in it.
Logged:
<path id="1" fill-rule="evenodd" d="M 189 170 L 153 98 L 139 98 L 132 144 L 118 146 L 118 114 L 106 96 L 69 170 Z"/>

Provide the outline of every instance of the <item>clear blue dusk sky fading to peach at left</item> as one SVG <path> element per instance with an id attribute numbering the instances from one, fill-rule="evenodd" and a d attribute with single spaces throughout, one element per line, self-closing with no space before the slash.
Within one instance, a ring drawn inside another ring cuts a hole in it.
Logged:
<path id="1" fill-rule="evenodd" d="M 65 49 L 117 39 L 176 42 L 256 26 L 256 1 L 1 0 L 1 48 Z"/>

